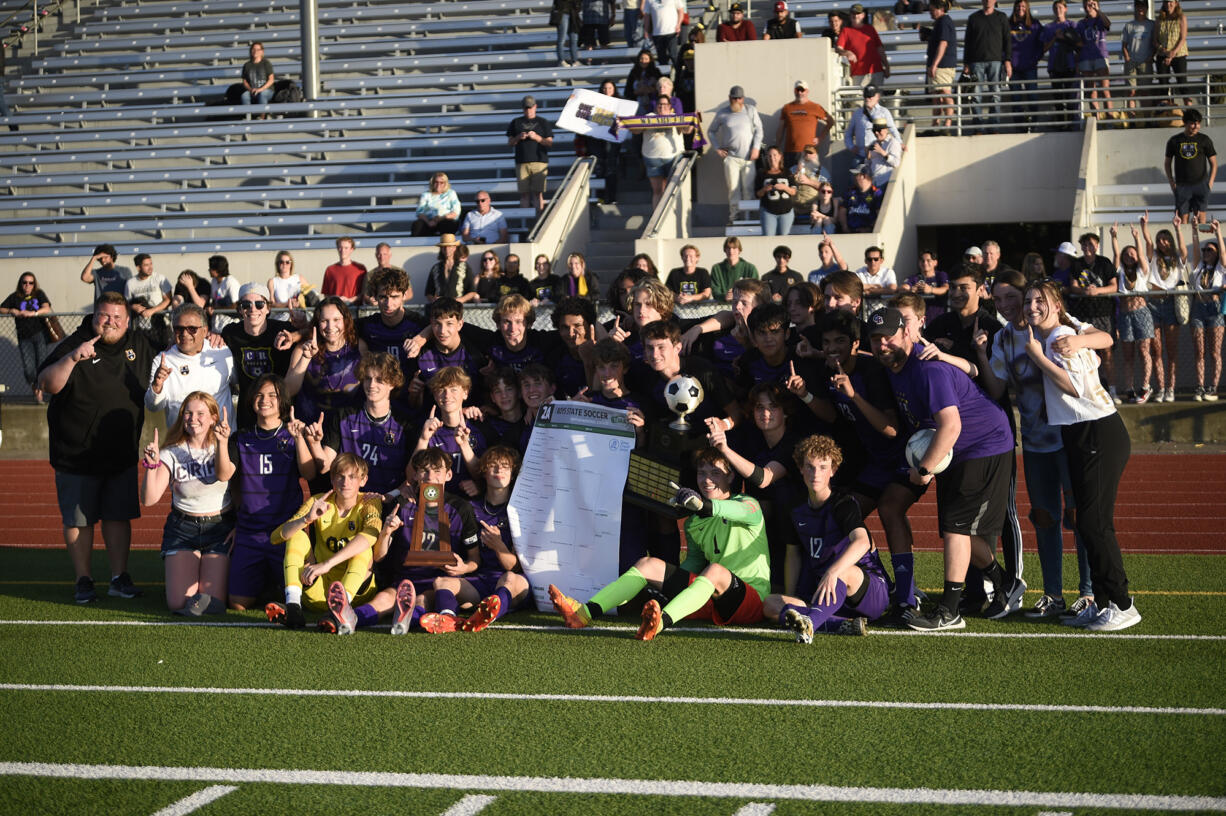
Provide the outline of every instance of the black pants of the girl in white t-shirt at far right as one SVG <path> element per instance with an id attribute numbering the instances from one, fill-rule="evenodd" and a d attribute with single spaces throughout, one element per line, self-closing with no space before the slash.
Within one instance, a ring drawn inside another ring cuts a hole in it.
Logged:
<path id="1" fill-rule="evenodd" d="M 1118 413 L 1090 421 L 1063 425 L 1060 436 L 1069 462 L 1076 529 L 1090 556 L 1094 602 L 1100 609 L 1114 602 L 1132 604 L 1124 559 L 1116 540 L 1116 494 L 1132 452 L 1128 429 Z"/>

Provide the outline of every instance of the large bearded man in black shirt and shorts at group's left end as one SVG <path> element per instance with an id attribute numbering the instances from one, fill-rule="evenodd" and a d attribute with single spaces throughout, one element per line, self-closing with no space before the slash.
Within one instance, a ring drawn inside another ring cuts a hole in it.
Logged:
<path id="1" fill-rule="evenodd" d="M 131 519 L 140 516 L 136 461 L 152 365 L 153 349 L 131 331 L 124 295 L 107 292 L 94 301 L 93 317 L 51 349 L 38 372 L 39 390 L 51 396 L 50 462 L 78 604 L 98 599 L 89 561 L 99 519 L 109 594 L 142 594 L 128 576 L 128 551 Z"/>

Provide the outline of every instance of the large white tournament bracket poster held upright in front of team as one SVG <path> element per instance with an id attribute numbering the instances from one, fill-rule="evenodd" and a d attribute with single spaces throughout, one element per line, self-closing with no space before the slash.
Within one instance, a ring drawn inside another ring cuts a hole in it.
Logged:
<path id="1" fill-rule="evenodd" d="M 508 518 L 539 609 L 548 586 L 590 598 L 618 576 L 622 489 L 634 448 L 626 412 L 590 402 L 541 406 Z"/>

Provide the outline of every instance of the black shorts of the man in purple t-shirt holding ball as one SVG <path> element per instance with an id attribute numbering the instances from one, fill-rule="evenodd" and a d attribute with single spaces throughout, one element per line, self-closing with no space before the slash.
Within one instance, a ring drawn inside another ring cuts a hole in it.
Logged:
<path id="1" fill-rule="evenodd" d="M 937 475 L 937 524 L 942 533 L 994 542 L 1009 510 L 1013 451 L 954 462 Z"/>

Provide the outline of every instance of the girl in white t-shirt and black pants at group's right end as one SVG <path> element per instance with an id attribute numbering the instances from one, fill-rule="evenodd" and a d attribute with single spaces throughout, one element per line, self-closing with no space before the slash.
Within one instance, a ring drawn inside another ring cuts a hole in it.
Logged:
<path id="1" fill-rule="evenodd" d="M 1051 279 L 1031 283 L 1024 309 L 1031 330 L 1026 354 L 1043 375 L 1047 420 L 1060 428 L 1076 528 L 1090 556 L 1094 584 L 1094 603 L 1064 622 L 1095 632 L 1127 629 L 1141 620 L 1128 594 L 1116 539 L 1116 493 L 1132 451 L 1128 429 L 1098 380 L 1098 357 L 1087 348 L 1073 349 L 1063 339 L 1075 331 L 1064 314 L 1059 284 Z"/>

